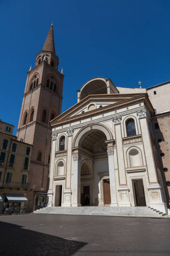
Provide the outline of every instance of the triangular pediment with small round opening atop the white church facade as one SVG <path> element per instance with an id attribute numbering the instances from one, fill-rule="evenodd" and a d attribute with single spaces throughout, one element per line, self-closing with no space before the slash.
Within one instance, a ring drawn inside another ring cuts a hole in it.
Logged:
<path id="1" fill-rule="evenodd" d="M 108 94 L 108 95 L 88 95 L 83 100 L 73 105 L 71 108 L 58 115 L 50 123 L 54 126 L 57 123 L 65 121 L 81 120 L 91 115 L 98 115 L 110 111 L 112 108 L 118 108 L 121 105 L 128 105 L 140 99 L 148 98 L 146 93 L 130 94 Z M 90 106 L 92 106 L 90 108 Z M 94 107 L 95 106 L 95 107 Z"/>

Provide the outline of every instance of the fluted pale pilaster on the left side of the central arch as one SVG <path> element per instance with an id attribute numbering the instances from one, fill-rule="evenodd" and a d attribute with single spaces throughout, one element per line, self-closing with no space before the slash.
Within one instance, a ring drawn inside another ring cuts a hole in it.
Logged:
<path id="1" fill-rule="evenodd" d="M 81 206 L 80 203 L 80 160 L 81 157 L 73 155 L 73 203 L 72 206 Z"/>

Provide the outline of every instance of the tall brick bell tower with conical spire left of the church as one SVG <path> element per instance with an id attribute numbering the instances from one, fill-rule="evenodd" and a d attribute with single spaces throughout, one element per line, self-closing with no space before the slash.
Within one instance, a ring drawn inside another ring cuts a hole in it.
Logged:
<path id="1" fill-rule="evenodd" d="M 61 113 L 64 75 L 58 72 L 53 24 L 42 51 L 36 55 L 35 68 L 27 73 L 23 103 L 17 129 L 18 140 L 33 144 L 30 161 L 30 209 L 45 202 L 50 163 L 50 121 Z M 34 207 L 33 207 L 34 205 Z"/>

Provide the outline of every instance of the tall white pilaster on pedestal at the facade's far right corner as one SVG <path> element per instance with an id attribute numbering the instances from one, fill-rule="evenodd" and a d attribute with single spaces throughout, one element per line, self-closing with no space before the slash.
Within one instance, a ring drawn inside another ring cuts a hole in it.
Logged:
<path id="1" fill-rule="evenodd" d="M 162 187 L 159 184 L 157 168 L 155 164 L 153 145 L 151 140 L 150 129 L 148 126 L 149 112 L 147 109 L 137 110 L 140 122 L 140 130 L 143 139 L 143 147 L 145 151 L 146 165 L 148 169 L 148 201 L 149 206 L 161 212 L 167 212 L 167 206 L 163 202 Z M 147 196 L 147 195 L 145 195 Z"/>

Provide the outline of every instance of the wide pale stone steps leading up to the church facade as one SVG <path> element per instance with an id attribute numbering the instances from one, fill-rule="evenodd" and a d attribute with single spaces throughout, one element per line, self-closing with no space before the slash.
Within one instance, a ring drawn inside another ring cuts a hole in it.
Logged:
<path id="1" fill-rule="evenodd" d="M 166 215 L 150 207 L 45 207 L 34 213 L 42 214 L 67 214 L 67 215 L 112 215 L 112 216 L 136 216 L 136 217 L 156 217 L 161 218 Z"/>

